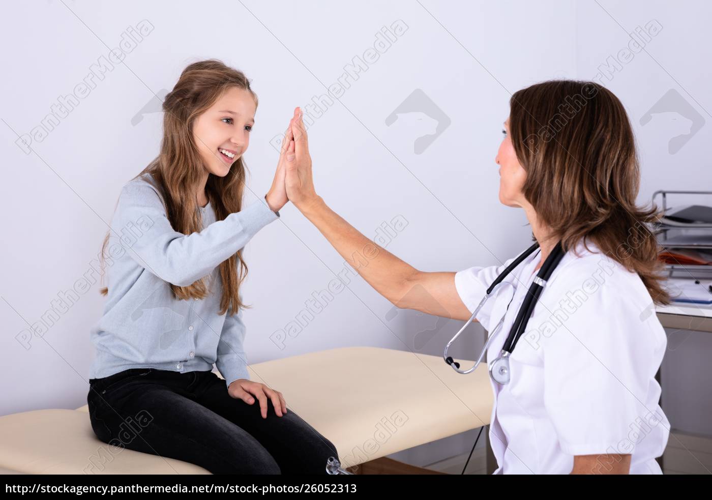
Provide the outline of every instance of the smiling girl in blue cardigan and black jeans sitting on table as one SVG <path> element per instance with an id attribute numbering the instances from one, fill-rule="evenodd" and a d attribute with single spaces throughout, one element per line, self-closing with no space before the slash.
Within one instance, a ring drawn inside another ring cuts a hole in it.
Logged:
<path id="1" fill-rule="evenodd" d="M 287 202 L 292 139 L 264 199 L 243 207 L 257 104 L 216 60 L 187 66 L 166 96 L 160 153 L 123 187 L 104 241 L 103 256 L 118 240 L 91 332 L 89 415 L 103 442 L 214 474 L 326 474 L 334 445 L 249 380 L 243 350 L 242 249 Z"/>

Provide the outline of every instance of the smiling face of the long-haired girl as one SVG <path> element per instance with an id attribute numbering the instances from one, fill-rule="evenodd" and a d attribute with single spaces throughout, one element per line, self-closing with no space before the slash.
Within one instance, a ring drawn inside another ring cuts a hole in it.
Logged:
<path id="1" fill-rule="evenodd" d="M 193 140 L 209 173 L 226 176 L 247 150 L 256 110 L 249 90 L 231 87 L 195 120 Z"/>

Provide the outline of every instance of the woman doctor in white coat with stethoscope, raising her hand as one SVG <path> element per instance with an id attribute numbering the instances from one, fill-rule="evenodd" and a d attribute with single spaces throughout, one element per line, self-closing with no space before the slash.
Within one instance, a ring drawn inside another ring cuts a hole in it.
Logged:
<path id="1" fill-rule="evenodd" d="M 508 380 L 491 379 L 495 474 L 661 474 L 655 458 L 669 422 L 654 377 L 666 335 L 650 311 L 670 299 L 646 227 L 656 210 L 635 204 L 639 164 L 623 105 L 597 83 L 547 81 L 512 96 L 504 125 L 499 200 L 524 210 L 538 246 L 475 318 L 491 335 L 488 362 L 508 357 Z M 316 194 L 300 110 L 289 130 L 290 201 L 344 259 L 372 248 Z M 376 248 L 357 269 L 376 291 L 399 308 L 462 321 L 526 253 L 496 266 L 424 272 Z M 528 295 L 538 300 L 505 354 Z"/>

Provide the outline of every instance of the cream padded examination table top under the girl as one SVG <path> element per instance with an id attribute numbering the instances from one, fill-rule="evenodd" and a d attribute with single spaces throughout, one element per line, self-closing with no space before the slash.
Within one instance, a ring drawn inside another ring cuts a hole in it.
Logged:
<path id="1" fill-rule="evenodd" d="M 472 362 L 465 361 L 464 366 Z M 489 423 L 486 365 L 460 375 L 439 356 L 372 347 L 322 350 L 248 367 L 352 466 Z M 87 407 L 0 417 L 0 470 L 28 474 L 209 474 L 176 459 L 109 447 Z"/>

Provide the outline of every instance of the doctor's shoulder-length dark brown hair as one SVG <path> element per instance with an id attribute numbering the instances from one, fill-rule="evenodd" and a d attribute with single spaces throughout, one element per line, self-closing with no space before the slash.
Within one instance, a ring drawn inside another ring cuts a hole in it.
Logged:
<path id="1" fill-rule="evenodd" d="M 509 131 L 526 172 L 522 192 L 565 251 L 583 239 L 636 272 L 654 303 L 671 302 L 649 225 L 637 207 L 640 164 L 620 100 L 594 82 L 549 80 L 515 92 Z"/>

